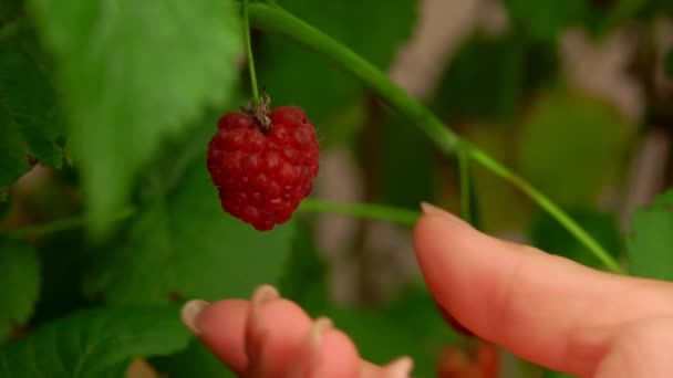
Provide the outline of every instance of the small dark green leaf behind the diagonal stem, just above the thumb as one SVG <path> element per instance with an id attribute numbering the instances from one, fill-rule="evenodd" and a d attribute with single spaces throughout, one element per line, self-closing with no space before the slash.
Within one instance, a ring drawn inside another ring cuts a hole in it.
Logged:
<path id="1" fill-rule="evenodd" d="M 614 214 L 591 209 L 570 210 L 568 214 L 613 256 L 622 250 L 621 234 Z M 546 211 L 539 211 L 534 217 L 529 234 L 532 243 L 543 251 L 591 267 L 603 267 L 600 260 Z"/>

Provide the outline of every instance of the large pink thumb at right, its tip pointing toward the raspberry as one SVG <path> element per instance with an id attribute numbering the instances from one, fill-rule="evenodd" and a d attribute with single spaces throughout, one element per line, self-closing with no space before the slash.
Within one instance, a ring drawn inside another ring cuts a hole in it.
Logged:
<path id="1" fill-rule="evenodd" d="M 437 302 L 477 335 L 535 363 L 582 374 L 619 327 L 673 315 L 672 285 L 601 273 L 485 235 L 438 209 L 414 229 Z"/>

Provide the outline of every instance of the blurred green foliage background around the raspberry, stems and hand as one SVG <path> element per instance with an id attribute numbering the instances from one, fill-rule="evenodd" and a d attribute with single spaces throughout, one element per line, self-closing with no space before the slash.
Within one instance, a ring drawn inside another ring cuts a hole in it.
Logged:
<path id="1" fill-rule="evenodd" d="M 673 280 L 673 1 L 279 0 L 520 174 L 634 275 Z M 459 211 L 457 162 L 329 60 L 252 33 L 275 105 L 315 125 L 314 198 Z M 205 169 L 251 96 L 221 0 L 0 0 L 0 377 L 228 377 L 179 324 L 262 283 L 415 377 L 560 377 L 446 327 L 410 230 L 298 212 L 259 233 Z M 478 227 L 601 267 L 474 167 Z M 638 210 L 636 210 L 638 209 Z M 488 359 L 486 359 L 488 360 Z M 489 365 L 490 364 L 490 365 Z M 488 365 L 488 366 L 486 366 Z"/>

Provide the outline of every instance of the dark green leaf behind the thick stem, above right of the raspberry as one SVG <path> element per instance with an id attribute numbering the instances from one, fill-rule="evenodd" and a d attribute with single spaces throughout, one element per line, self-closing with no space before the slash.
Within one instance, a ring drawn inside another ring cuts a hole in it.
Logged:
<path id="1" fill-rule="evenodd" d="M 299 18 L 343 42 L 376 66 L 387 69 L 402 43 L 411 35 L 417 14 L 416 0 L 283 0 L 281 6 Z M 323 57 L 296 43 L 265 35 L 258 53 L 260 85 L 277 105 L 302 106 L 319 134 L 330 143 L 339 139 L 343 123 L 330 123 L 354 101 L 363 99 L 364 87 Z M 339 126 L 338 126 L 339 125 Z M 332 137 L 332 133 L 336 136 Z"/>

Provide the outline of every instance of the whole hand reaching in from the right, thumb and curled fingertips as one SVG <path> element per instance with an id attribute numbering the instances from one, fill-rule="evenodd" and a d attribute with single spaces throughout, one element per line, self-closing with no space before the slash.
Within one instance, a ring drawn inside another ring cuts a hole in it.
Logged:
<path id="1" fill-rule="evenodd" d="M 673 377 L 673 283 L 599 272 L 486 235 L 423 204 L 414 250 L 437 303 L 479 337 L 579 378 Z M 185 304 L 183 322 L 241 377 L 408 377 L 363 360 L 328 318 L 263 285 Z"/>

